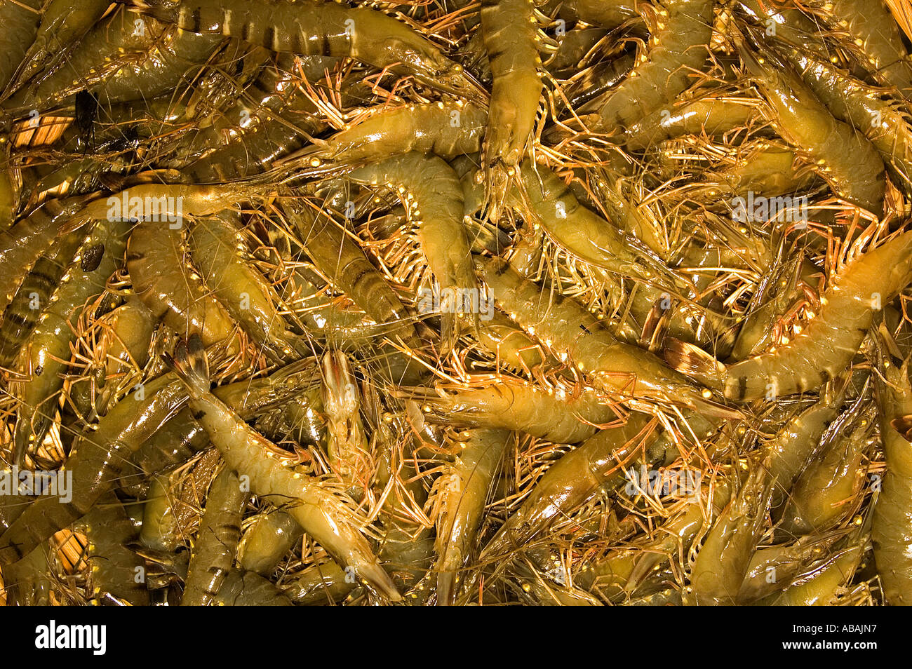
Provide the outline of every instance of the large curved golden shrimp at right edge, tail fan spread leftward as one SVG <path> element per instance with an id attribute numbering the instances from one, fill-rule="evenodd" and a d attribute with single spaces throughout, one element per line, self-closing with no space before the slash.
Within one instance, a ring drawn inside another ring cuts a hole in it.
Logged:
<path id="1" fill-rule="evenodd" d="M 903 232 L 849 262 L 821 298 L 820 313 L 793 340 L 734 365 L 694 348 L 667 352 L 673 366 L 749 401 L 813 391 L 842 373 L 865 339 L 881 304 L 912 281 L 912 232 Z"/>

